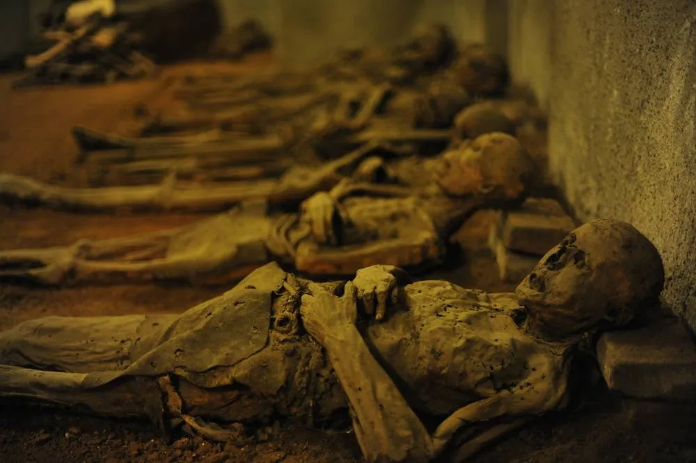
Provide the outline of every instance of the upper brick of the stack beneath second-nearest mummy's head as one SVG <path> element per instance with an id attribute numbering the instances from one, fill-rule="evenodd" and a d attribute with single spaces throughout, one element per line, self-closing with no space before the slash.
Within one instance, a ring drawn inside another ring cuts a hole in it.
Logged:
<path id="1" fill-rule="evenodd" d="M 520 209 L 507 213 L 503 244 L 509 250 L 543 256 L 575 227 L 557 201 L 529 198 Z"/>

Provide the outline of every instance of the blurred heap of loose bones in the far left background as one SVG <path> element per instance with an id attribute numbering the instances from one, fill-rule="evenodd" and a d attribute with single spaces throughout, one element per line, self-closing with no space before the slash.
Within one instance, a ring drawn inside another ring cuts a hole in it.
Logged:
<path id="1" fill-rule="evenodd" d="M 61 83 L 111 83 L 155 73 L 155 63 L 138 51 L 127 22 L 112 22 L 99 13 L 84 24 L 59 24 L 42 33 L 50 45 L 26 56 L 26 74 L 15 87 Z"/>

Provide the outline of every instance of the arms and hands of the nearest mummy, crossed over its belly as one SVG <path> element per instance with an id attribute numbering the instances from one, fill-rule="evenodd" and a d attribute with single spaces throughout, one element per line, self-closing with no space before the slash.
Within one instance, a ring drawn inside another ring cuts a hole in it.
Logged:
<path id="1" fill-rule="evenodd" d="M 310 284 L 311 294 L 303 296 L 301 305 L 306 329 L 326 349 L 347 395 L 356 437 L 367 460 L 431 461 L 467 423 L 538 412 L 538 401 L 525 402 L 517 393 L 500 391 L 461 407 L 434 433 L 428 432 L 355 326 L 358 300 L 367 302 L 365 306 L 378 319 L 383 316 L 397 286 L 398 271 L 392 266 L 360 270 L 340 298 Z"/>

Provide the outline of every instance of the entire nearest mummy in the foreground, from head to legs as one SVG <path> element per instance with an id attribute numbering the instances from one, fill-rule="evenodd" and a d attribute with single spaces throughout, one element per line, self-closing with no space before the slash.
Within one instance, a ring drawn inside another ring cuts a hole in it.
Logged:
<path id="1" fill-rule="evenodd" d="M 656 304 L 664 270 L 638 230 L 597 220 L 514 294 L 408 280 L 381 265 L 315 284 L 268 264 L 182 315 L 30 320 L 0 334 L 0 396 L 215 440 L 226 423 L 321 424 L 350 409 L 370 462 L 463 461 L 567 405 L 578 342 Z"/>

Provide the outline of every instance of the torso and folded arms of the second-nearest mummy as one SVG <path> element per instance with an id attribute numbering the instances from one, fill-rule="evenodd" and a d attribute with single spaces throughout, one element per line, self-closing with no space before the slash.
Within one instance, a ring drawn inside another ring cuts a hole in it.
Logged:
<path id="1" fill-rule="evenodd" d="M 507 205 L 495 188 L 474 184 L 461 195 L 445 190 L 437 179 L 450 172 L 448 156 L 391 163 L 393 184 L 344 180 L 313 195 L 299 215 L 272 227 L 271 254 L 310 275 L 350 275 L 377 264 L 423 268 L 440 263 L 447 238 L 477 209 Z"/>

